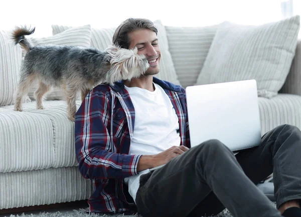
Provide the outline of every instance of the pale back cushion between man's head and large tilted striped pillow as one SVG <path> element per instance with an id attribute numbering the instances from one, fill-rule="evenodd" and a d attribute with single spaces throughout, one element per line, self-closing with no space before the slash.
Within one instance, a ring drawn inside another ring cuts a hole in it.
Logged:
<path id="1" fill-rule="evenodd" d="M 183 87 L 196 83 L 218 26 L 165 26 L 169 50 Z"/>

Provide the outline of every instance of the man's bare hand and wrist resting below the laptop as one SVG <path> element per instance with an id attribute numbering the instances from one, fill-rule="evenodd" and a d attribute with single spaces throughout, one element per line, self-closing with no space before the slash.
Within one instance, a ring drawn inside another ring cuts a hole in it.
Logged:
<path id="1" fill-rule="evenodd" d="M 166 164 L 171 159 L 173 159 L 176 156 L 179 156 L 179 154 L 182 154 L 187 150 L 189 150 L 188 147 L 179 145 L 179 146 L 172 146 L 169 149 L 158 154 L 142 155 L 138 161 L 137 172 L 147 168 L 153 168 L 156 166 Z"/>

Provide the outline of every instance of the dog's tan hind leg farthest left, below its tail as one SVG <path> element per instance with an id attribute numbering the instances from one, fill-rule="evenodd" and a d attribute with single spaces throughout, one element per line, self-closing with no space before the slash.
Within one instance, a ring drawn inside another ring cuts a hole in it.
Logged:
<path id="1" fill-rule="evenodd" d="M 20 81 L 18 84 L 18 89 L 15 93 L 15 106 L 14 109 L 16 111 L 22 111 L 22 104 L 24 100 L 24 96 L 27 94 L 30 85 L 36 78 L 36 75 L 34 73 L 21 73 Z"/>

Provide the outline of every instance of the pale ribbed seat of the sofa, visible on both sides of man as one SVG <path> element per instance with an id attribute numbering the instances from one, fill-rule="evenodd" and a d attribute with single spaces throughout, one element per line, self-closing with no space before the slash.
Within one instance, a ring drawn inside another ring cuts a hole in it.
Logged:
<path id="1" fill-rule="evenodd" d="M 77 101 L 79 107 L 81 101 Z M 301 96 L 279 93 L 268 99 L 258 97 L 261 132 L 280 124 L 301 129 Z M 13 105 L 0 107 L 0 172 L 26 171 L 49 167 L 77 166 L 74 147 L 74 122 L 67 118 L 66 102 L 44 101 L 14 111 Z"/>

